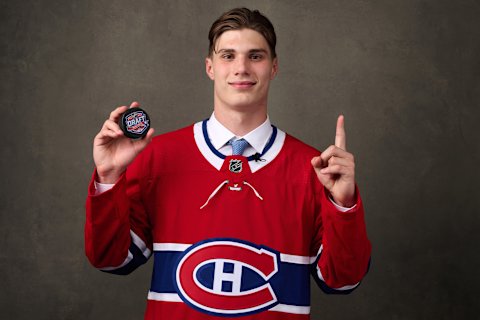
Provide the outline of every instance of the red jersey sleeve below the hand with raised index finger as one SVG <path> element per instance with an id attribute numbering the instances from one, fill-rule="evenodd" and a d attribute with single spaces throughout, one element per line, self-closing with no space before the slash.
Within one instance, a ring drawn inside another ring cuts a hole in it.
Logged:
<path id="1" fill-rule="evenodd" d="M 326 293 L 346 294 L 358 287 L 370 266 L 371 244 L 367 237 L 364 208 L 356 187 L 356 205 L 339 211 L 330 201 L 328 191 L 315 184 L 316 260 L 312 275 Z"/>

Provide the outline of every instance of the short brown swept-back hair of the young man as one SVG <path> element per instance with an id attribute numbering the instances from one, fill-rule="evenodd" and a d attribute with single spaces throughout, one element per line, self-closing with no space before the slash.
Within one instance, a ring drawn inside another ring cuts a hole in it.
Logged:
<path id="1" fill-rule="evenodd" d="M 272 23 L 258 10 L 252 11 L 247 8 L 235 8 L 227 11 L 212 24 L 208 33 L 208 40 L 210 41 L 208 56 L 212 56 L 215 51 L 215 43 L 225 31 L 241 29 L 252 29 L 260 33 L 268 43 L 272 59 L 277 56 L 275 51 L 277 36 Z"/>

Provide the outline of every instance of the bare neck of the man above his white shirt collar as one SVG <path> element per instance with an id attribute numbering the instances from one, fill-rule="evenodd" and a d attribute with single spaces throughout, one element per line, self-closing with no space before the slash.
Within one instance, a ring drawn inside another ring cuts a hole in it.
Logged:
<path id="1" fill-rule="evenodd" d="M 267 119 L 267 110 L 237 111 L 214 108 L 215 118 L 236 136 L 244 136 Z"/>

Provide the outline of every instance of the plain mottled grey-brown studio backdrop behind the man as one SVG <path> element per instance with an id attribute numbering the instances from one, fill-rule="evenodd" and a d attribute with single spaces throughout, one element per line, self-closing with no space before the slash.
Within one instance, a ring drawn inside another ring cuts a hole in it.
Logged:
<path id="1" fill-rule="evenodd" d="M 313 319 L 460 319 L 480 298 L 478 1 L 0 1 L 2 319 L 141 319 L 128 277 L 84 255 L 91 144 L 138 100 L 157 133 L 210 115 L 207 32 L 236 6 L 278 33 L 270 117 L 323 149 L 344 113 L 372 268 Z"/>

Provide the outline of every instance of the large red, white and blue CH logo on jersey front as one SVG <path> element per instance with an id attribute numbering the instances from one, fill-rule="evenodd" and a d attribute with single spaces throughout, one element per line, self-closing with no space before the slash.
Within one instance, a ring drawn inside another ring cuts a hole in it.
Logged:
<path id="1" fill-rule="evenodd" d="M 191 307 L 231 317 L 276 305 L 269 280 L 278 272 L 277 254 L 235 239 L 211 239 L 183 253 L 176 268 L 179 296 Z"/>

